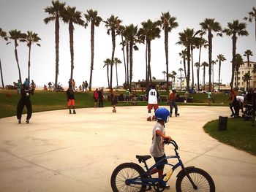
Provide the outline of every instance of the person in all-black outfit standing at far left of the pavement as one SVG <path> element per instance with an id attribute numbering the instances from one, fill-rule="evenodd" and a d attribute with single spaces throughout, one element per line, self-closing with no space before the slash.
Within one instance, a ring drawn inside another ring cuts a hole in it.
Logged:
<path id="1" fill-rule="evenodd" d="M 25 84 L 22 85 L 22 88 L 20 90 L 21 96 L 20 101 L 17 105 L 17 119 L 18 123 L 21 123 L 21 114 L 23 111 L 24 106 L 26 106 L 27 115 L 26 115 L 26 123 L 29 123 L 29 120 L 32 116 L 32 105 L 30 101 L 30 95 L 34 94 L 34 89 L 30 89 Z"/>

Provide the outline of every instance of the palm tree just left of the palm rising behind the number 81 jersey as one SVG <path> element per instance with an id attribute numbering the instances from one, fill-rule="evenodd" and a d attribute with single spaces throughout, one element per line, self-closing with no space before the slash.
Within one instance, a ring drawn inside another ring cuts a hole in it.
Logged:
<path id="1" fill-rule="evenodd" d="M 132 90 L 133 50 L 138 50 L 136 43 L 141 42 L 138 38 L 138 26 L 133 24 L 127 26 L 127 41 L 129 42 L 129 90 Z"/>

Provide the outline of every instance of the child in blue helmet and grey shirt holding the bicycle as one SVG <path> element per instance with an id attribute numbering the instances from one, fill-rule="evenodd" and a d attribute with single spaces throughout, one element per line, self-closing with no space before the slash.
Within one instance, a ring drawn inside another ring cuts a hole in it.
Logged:
<path id="1" fill-rule="evenodd" d="M 173 140 L 170 136 L 165 135 L 165 123 L 168 122 L 169 116 L 170 112 L 169 110 L 165 109 L 165 107 L 160 107 L 155 112 L 157 123 L 154 125 L 153 128 L 153 137 L 150 147 L 150 153 L 154 157 L 154 161 L 156 161 L 156 163 L 166 157 L 164 140 Z M 167 163 L 167 160 L 163 161 L 163 163 L 164 162 Z M 157 168 L 152 169 L 150 173 L 155 174 L 158 172 L 158 177 L 162 179 L 164 167 L 165 164 L 161 164 L 157 166 Z"/>

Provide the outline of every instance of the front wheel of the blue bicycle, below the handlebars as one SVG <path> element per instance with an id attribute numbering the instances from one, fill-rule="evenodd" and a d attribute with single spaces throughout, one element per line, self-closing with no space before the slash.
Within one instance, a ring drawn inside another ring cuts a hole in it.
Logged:
<path id="1" fill-rule="evenodd" d="M 186 170 L 189 176 L 192 178 L 195 185 L 197 185 L 197 189 L 193 188 L 193 185 L 190 183 L 186 173 L 181 172 L 181 174 L 178 175 L 178 178 L 176 180 L 177 192 L 186 192 L 186 191 L 215 192 L 214 180 L 211 178 L 210 174 L 208 174 L 203 169 L 199 169 L 196 167 L 186 169 Z"/>

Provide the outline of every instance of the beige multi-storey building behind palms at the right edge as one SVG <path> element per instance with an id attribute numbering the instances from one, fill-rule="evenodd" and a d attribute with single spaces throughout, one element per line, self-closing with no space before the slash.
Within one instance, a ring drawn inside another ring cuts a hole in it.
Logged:
<path id="1" fill-rule="evenodd" d="M 244 64 L 241 64 L 238 69 L 238 90 L 246 90 L 247 83 L 244 81 L 243 77 L 244 74 L 248 73 L 250 71 L 250 76 L 252 77 L 251 80 L 249 80 L 248 86 L 249 88 L 256 88 L 256 73 L 253 73 L 254 66 L 256 66 L 256 62 L 250 61 L 249 66 L 248 62 L 244 61 Z M 236 74 L 234 76 L 234 82 L 233 87 L 236 87 Z"/>

